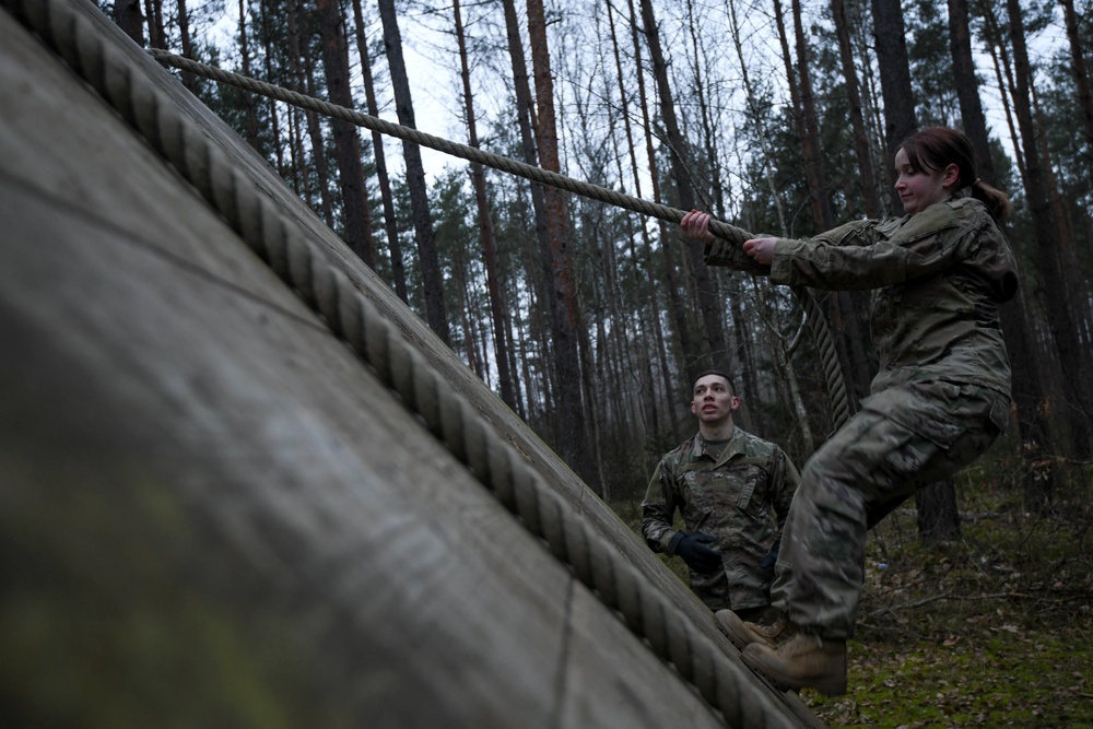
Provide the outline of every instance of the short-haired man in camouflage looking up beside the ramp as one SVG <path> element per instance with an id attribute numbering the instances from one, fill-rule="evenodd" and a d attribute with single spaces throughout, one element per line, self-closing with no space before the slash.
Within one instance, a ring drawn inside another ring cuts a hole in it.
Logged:
<path id="1" fill-rule="evenodd" d="M 698 433 L 657 466 L 642 504 L 642 532 L 654 551 L 683 558 L 691 589 L 710 610 L 766 622 L 797 469 L 781 448 L 732 423 L 740 399 L 724 373 L 702 373 L 693 395 Z M 672 527 L 677 509 L 683 531 Z"/>

